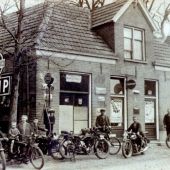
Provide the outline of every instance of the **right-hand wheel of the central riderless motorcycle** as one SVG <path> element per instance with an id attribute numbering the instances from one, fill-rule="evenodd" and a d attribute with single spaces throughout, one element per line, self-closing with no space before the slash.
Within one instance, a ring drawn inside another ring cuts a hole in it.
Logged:
<path id="1" fill-rule="evenodd" d="M 99 139 L 96 142 L 94 149 L 95 149 L 95 155 L 99 159 L 105 159 L 105 158 L 107 158 L 107 156 L 109 154 L 110 146 L 106 139 Z"/>

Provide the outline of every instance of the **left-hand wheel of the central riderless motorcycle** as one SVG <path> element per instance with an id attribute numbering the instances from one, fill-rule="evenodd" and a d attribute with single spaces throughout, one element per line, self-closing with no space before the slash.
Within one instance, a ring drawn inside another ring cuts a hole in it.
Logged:
<path id="1" fill-rule="evenodd" d="M 74 158 L 74 143 L 71 140 L 64 140 L 60 144 L 59 152 L 63 158 L 72 159 Z"/>

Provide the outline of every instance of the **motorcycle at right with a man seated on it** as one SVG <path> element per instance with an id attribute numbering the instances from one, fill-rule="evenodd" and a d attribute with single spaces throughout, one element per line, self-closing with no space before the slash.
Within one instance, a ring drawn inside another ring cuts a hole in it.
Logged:
<path id="1" fill-rule="evenodd" d="M 139 139 L 140 138 L 140 139 Z M 141 144 L 139 144 L 141 140 Z M 148 149 L 149 140 L 144 136 L 139 136 L 136 133 L 125 131 L 123 134 L 122 154 L 125 158 L 132 155 L 144 154 Z"/>

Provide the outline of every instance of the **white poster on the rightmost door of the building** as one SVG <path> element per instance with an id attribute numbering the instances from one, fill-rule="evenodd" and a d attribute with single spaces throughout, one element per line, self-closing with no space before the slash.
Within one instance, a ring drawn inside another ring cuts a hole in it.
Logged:
<path id="1" fill-rule="evenodd" d="M 155 103 L 154 101 L 145 101 L 145 123 L 154 123 L 155 121 Z"/>

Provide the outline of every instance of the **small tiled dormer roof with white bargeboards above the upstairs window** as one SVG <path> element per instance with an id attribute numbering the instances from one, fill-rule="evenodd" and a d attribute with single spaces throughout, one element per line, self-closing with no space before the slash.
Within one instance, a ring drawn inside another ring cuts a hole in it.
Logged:
<path id="1" fill-rule="evenodd" d="M 106 24 L 108 22 L 117 22 L 118 19 L 126 12 L 129 6 L 135 3 L 134 0 L 117 0 L 112 4 L 108 4 L 92 12 L 92 28 Z M 144 7 L 141 0 L 137 0 L 137 4 L 142 13 L 148 20 L 148 23 L 154 31 L 158 30 L 154 24 L 149 12 Z"/>

